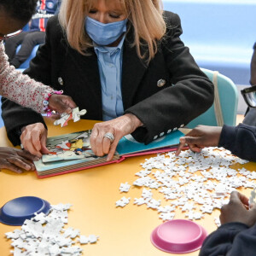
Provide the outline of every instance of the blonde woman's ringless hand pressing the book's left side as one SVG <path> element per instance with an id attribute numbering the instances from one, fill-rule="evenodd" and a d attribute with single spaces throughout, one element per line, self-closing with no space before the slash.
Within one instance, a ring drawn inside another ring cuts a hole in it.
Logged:
<path id="1" fill-rule="evenodd" d="M 39 158 L 42 154 L 49 154 L 46 148 L 47 130 L 42 123 L 26 125 L 21 131 L 20 142 L 26 151 Z"/>

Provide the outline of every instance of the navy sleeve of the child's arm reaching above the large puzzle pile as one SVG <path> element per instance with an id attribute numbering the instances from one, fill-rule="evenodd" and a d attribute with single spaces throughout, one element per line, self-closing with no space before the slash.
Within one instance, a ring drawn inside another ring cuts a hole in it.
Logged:
<path id="1" fill-rule="evenodd" d="M 218 147 L 223 147 L 244 160 L 256 161 L 256 127 L 224 125 Z"/>

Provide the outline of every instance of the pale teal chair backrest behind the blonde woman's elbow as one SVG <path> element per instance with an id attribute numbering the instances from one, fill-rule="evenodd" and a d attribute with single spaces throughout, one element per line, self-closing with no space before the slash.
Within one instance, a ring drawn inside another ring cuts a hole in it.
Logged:
<path id="1" fill-rule="evenodd" d="M 205 68 L 201 70 L 206 73 L 207 77 L 212 80 L 213 71 Z M 223 119 L 225 125 L 236 125 L 236 112 L 238 103 L 238 93 L 236 85 L 231 79 L 223 74 L 218 73 L 218 95 L 222 109 Z M 217 126 L 217 120 L 214 112 L 214 105 L 202 113 L 197 118 L 193 119 L 188 125 L 188 128 L 195 128 L 196 125 L 212 125 Z"/>

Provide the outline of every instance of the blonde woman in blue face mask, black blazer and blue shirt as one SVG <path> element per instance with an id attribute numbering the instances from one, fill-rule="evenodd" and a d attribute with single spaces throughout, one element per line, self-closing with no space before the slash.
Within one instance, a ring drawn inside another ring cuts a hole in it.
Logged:
<path id="1" fill-rule="evenodd" d="M 150 143 L 212 105 L 212 83 L 179 38 L 178 15 L 161 6 L 160 0 L 64 0 L 26 71 L 72 96 L 87 109 L 86 119 L 105 121 L 94 126 L 90 143 L 96 155 L 108 154 L 108 160 L 126 134 Z M 16 115 L 10 120 L 6 113 L 20 107 L 3 103 L 10 140 L 21 139 L 38 154 L 35 145 L 45 142 L 31 134 L 44 120 L 31 110 L 26 110 L 26 122 Z M 46 132 L 41 127 L 40 136 Z"/>

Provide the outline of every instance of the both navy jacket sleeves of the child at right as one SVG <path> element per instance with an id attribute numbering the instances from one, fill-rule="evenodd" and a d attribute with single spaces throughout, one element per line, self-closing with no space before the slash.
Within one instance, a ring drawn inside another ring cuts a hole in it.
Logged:
<path id="1" fill-rule="evenodd" d="M 224 125 L 218 147 L 229 149 L 241 159 L 256 161 L 256 127 Z M 204 241 L 199 256 L 255 256 L 256 225 L 224 224 Z"/>

